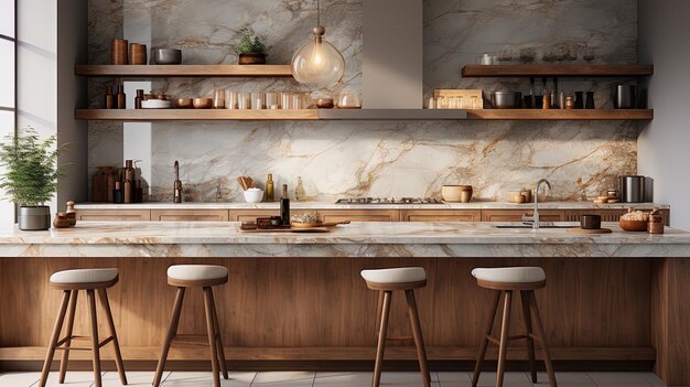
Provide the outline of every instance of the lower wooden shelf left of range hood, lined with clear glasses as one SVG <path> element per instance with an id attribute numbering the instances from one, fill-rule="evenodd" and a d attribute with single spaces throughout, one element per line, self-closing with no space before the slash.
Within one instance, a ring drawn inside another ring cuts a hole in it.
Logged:
<path id="1" fill-rule="evenodd" d="M 119 121 L 165 120 L 315 120 L 316 109 L 76 109 L 76 119 Z"/>

